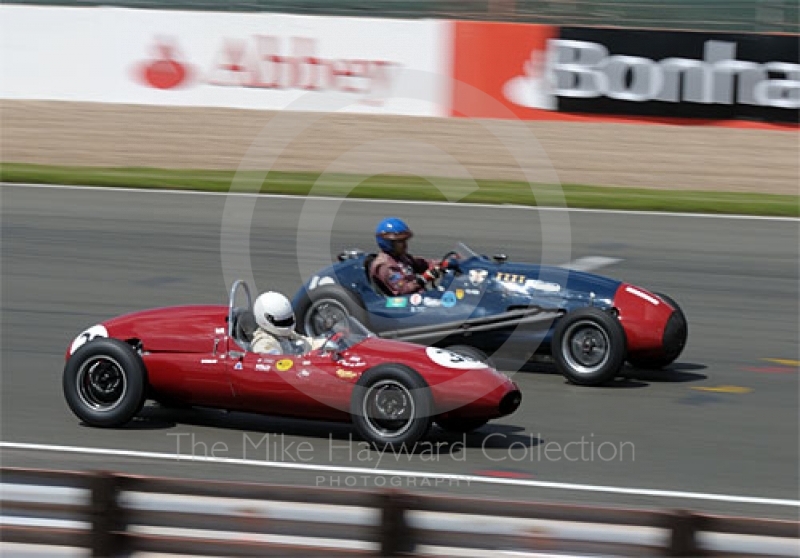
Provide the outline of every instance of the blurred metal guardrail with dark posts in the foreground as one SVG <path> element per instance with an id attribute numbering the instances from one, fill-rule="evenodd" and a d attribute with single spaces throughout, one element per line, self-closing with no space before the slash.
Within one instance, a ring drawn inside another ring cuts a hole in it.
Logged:
<path id="1" fill-rule="evenodd" d="M 796 556 L 800 522 L 399 491 L 3 468 L 2 544 L 93 556 Z M 753 538 L 755 537 L 755 538 Z M 0 550 L 2 545 L 0 545 Z"/>

